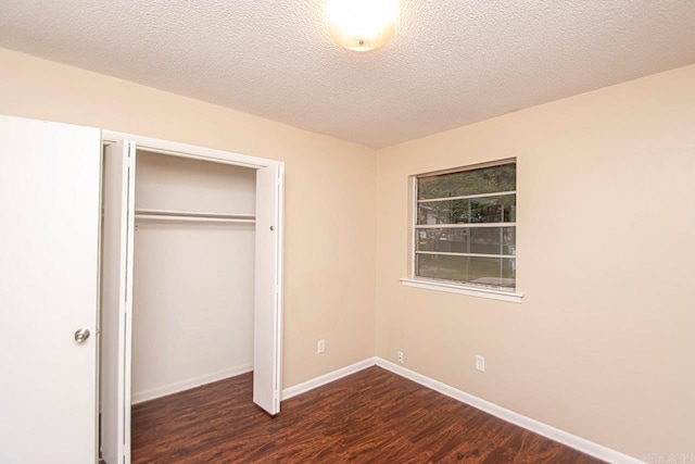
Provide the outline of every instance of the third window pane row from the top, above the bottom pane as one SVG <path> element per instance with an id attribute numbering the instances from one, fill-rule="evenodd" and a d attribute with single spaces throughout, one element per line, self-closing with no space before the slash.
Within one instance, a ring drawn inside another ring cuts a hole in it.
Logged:
<path id="1" fill-rule="evenodd" d="M 416 230 L 417 251 L 516 254 L 516 227 L 471 227 Z"/>

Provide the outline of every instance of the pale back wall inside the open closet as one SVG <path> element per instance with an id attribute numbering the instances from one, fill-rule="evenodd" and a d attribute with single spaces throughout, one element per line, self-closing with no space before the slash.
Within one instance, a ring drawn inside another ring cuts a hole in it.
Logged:
<path id="1" fill-rule="evenodd" d="M 254 214 L 255 170 L 138 151 L 136 211 Z M 132 402 L 253 368 L 254 224 L 137 220 Z"/>

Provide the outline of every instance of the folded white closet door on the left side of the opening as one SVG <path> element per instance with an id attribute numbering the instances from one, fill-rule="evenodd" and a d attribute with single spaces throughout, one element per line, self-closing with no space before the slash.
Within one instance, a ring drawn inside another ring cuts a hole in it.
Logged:
<path id="1" fill-rule="evenodd" d="M 108 464 L 130 462 L 135 156 L 130 141 L 104 150 L 101 448 Z"/>

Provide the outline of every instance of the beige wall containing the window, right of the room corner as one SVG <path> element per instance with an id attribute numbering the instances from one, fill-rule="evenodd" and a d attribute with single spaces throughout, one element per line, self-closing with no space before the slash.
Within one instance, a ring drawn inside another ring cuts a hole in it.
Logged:
<path id="1" fill-rule="evenodd" d="M 407 176 L 509 156 L 523 302 L 402 287 Z M 380 150 L 377 211 L 378 356 L 637 457 L 695 453 L 695 66 Z"/>

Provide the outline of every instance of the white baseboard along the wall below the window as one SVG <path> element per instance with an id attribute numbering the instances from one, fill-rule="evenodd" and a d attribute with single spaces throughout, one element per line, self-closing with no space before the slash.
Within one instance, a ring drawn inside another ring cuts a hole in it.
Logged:
<path id="1" fill-rule="evenodd" d="M 430 377 L 424 376 L 381 358 L 376 358 L 376 364 L 379 367 L 383 367 L 387 371 L 391 371 L 394 374 L 410 379 L 425 387 L 431 388 L 434 391 L 439 391 L 440 393 L 446 394 L 447 397 L 451 397 L 463 403 L 470 404 L 471 406 L 484 411 L 488 414 L 492 414 L 493 416 L 500 417 L 503 421 L 518 425 L 519 427 L 523 427 L 535 434 L 542 435 L 543 437 L 549 438 L 551 440 L 559 441 L 563 444 L 566 444 L 570 448 L 581 451 L 582 453 L 586 453 L 599 460 L 616 464 L 643 464 L 643 461 L 640 461 L 635 457 L 620 453 L 610 448 L 606 448 L 602 444 L 594 443 L 593 441 L 585 440 L 581 437 L 569 434 L 565 430 L 560 430 L 547 424 L 543 424 L 542 422 L 532 419 L 519 413 L 515 413 L 514 411 L 509 411 L 505 407 L 498 406 L 478 397 L 473 397 L 472 394 L 466 393 L 465 391 L 458 390 L 446 384 L 442 384 L 439 380 L 434 380 Z"/>

